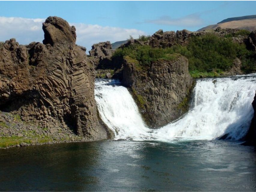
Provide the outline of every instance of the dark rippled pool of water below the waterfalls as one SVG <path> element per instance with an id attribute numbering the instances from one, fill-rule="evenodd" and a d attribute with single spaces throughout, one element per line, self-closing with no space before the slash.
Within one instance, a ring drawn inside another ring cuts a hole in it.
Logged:
<path id="1" fill-rule="evenodd" d="M 255 191 L 254 148 L 103 141 L 0 150 L 0 191 Z"/>

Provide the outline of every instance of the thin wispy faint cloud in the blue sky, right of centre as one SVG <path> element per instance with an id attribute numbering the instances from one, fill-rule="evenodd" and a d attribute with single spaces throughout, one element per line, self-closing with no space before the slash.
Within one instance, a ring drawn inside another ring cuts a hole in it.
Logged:
<path id="1" fill-rule="evenodd" d="M 145 22 L 168 26 L 196 27 L 203 24 L 203 19 L 201 19 L 198 14 L 192 14 L 178 19 L 172 19 L 169 16 L 162 16 L 158 19 L 146 20 Z"/>

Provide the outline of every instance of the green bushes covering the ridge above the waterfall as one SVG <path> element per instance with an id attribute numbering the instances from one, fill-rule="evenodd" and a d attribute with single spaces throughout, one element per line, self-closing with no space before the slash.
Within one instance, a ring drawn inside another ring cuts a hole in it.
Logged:
<path id="1" fill-rule="evenodd" d="M 245 44 L 232 41 L 232 37 L 248 33 L 247 30 L 239 30 L 226 38 L 207 33 L 191 37 L 186 46 L 175 45 L 164 49 L 133 44 L 116 49 L 113 57 L 126 56 L 126 59 L 136 61 L 134 63 L 138 69 L 145 69 L 153 61 L 174 60 L 181 54 L 188 58 L 189 72 L 193 77 L 221 76 L 234 65 L 233 60 L 239 58 L 242 61 L 241 69 L 249 73 L 256 71 L 255 53 L 246 49 Z"/>

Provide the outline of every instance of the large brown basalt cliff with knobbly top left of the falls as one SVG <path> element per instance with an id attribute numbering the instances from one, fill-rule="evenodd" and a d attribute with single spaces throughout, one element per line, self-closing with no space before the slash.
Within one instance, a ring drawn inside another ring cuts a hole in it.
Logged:
<path id="1" fill-rule="evenodd" d="M 43 23 L 44 44 L 0 44 L 0 110 L 41 127 L 70 128 L 106 139 L 94 99 L 94 66 L 75 45 L 75 28 L 59 17 Z"/>

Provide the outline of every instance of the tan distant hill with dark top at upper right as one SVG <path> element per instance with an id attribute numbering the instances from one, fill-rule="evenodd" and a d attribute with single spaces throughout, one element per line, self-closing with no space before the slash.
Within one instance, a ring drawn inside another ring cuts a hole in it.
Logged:
<path id="1" fill-rule="evenodd" d="M 197 31 L 216 29 L 217 27 L 221 28 L 234 28 L 234 29 L 246 29 L 248 31 L 256 30 L 256 15 L 248 15 L 241 17 L 232 17 L 222 20 L 215 25 L 209 25 L 203 27 Z"/>

